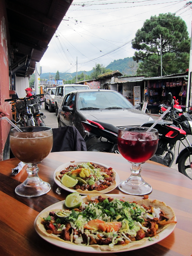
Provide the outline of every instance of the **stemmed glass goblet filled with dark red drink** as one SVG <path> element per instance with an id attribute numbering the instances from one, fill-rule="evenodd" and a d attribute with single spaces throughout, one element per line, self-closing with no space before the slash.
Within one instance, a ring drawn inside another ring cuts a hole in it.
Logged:
<path id="1" fill-rule="evenodd" d="M 119 183 L 119 189 L 124 193 L 141 196 L 152 191 L 151 185 L 141 177 L 141 164 L 149 160 L 156 152 L 158 146 L 158 131 L 148 127 L 121 128 L 118 131 L 117 146 L 121 155 L 132 166 L 131 176 Z"/>

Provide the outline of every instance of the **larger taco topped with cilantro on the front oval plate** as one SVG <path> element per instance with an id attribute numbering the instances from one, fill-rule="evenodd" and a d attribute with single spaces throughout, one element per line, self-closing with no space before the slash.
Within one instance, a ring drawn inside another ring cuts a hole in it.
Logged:
<path id="1" fill-rule="evenodd" d="M 125 202 L 107 195 L 86 196 L 80 207 L 42 213 L 36 226 L 41 234 L 64 243 L 117 251 L 144 243 L 171 223 L 171 207 L 158 200 Z"/>

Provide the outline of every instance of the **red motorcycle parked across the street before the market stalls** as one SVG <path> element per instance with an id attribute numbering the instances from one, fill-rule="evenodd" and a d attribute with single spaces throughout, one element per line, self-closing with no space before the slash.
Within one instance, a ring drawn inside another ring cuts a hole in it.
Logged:
<path id="1" fill-rule="evenodd" d="M 183 114 L 183 110 L 179 105 L 178 100 L 176 100 L 176 97 L 173 96 L 171 92 L 168 93 L 168 100 L 171 103 L 171 110 L 168 111 L 168 113 L 163 117 L 165 120 L 172 120 L 173 118 L 177 118 L 177 116 L 181 116 Z M 163 115 L 163 113 L 169 108 L 169 106 L 166 106 L 165 104 L 160 104 L 159 105 L 159 115 Z"/>

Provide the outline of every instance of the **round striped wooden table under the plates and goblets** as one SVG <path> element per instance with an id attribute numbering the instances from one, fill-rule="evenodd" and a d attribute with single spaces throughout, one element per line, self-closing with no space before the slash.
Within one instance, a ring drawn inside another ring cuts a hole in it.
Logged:
<path id="1" fill-rule="evenodd" d="M 34 220 L 39 212 L 47 206 L 64 200 L 68 195 L 65 190 L 61 195 L 55 193 L 57 185 L 53 180 L 54 170 L 70 161 L 95 161 L 113 167 L 121 180 L 130 175 L 130 164 L 118 154 L 100 152 L 58 152 L 51 153 L 39 164 L 39 176 L 51 184 L 51 191 L 43 196 L 25 198 L 14 192 L 17 185 L 23 182 L 27 173 L 25 167 L 16 176 L 11 175 L 11 168 L 18 165 L 19 160 L 12 158 L 0 162 L 0 255 L 2 256 L 53 256 L 82 255 L 51 245 L 44 241 L 35 231 Z M 151 199 L 164 201 L 171 206 L 177 217 L 177 225 L 171 235 L 157 244 L 130 251 L 109 253 L 108 255 L 129 256 L 190 256 L 192 255 L 192 180 L 179 172 L 161 164 L 148 161 L 142 164 L 142 177 L 152 185 Z M 111 194 L 120 194 L 116 188 Z M 95 255 L 99 255 L 96 253 Z M 84 255 L 91 255 L 84 253 Z"/>

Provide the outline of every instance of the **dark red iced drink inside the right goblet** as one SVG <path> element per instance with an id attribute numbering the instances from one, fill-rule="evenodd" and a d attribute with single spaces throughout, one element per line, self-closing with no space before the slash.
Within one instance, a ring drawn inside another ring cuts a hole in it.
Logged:
<path id="1" fill-rule="evenodd" d="M 118 138 L 121 155 L 132 163 L 144 163 L 149 160 L 155 154 L 157 145 L 158 139 L 142 140 L 137 138 L 137 135 L 132 140 Z"/>

